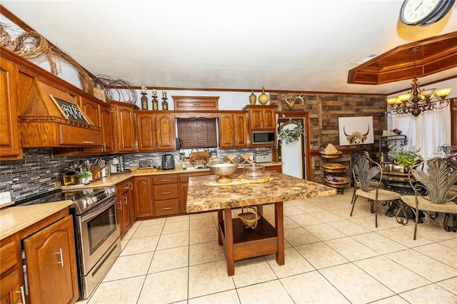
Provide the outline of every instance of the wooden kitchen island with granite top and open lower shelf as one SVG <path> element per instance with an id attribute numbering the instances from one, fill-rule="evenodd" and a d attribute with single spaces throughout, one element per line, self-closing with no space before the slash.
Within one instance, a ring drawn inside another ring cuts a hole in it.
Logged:
<path id="1" fill-rule="evenodd" d="M 235 274 L 235 260 L 276 254 L 276 263 L 284 265 L 283 201 L 336 195 L 336 189 L 277 172 L 268 172 L 266 183 L 214 184 L 218 176 L 189 178 L 186 211 L 217 211 L 218 240 L 227 256 L 227 273 Z M 236 180 L 237 174 L 233 175 Z M 273 203 L 275 225 L 262 216 L 262 205 Z M 232 208 L 257 206 L 260 215 L 255 229 L 245 228 L 239 218 L 231 218 Z"/>

